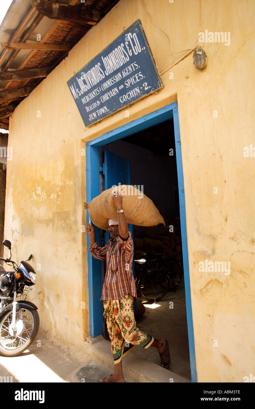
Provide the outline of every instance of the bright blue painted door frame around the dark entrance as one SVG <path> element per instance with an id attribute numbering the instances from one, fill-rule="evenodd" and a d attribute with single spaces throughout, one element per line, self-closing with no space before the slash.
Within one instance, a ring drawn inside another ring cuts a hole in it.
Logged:
<path id="1" fill-rule="evenodd" d="M 181 157 L 181 137 L 178 117 L 177 102 L 160 108 L 151 112 L 144 117 L 131 121 L 129 124 L 116 128 L 102 136 L 93 139 L 86 144 L 86 186 L 87 186 L 87 202 L 90 202 L 95 196 L 99 195 L 99 146 L 109 144 L 117 139 L 125 138 L 129 135 L 138 133 L 151 126 L 167 121 L 167 119 L 174 119 L 174 135 L 176 146 L 176 163 L 178 175 L 178 190 L 180 202 L 180 219 L 181 219 L 181 236 L 182 236 L 182 250 L 183 250 L 183 270 L 185 281 L 185 299 L 187 311 L 187 327 L 190 349 L 190 367 L 192 382 L 197 382 L 196 375 L 196 357 L 194 346 L 194 330 L 192 320 L 192 307 L 190 295 L 190 272 L 188 260 L 187 247 L 187 230 L 186 230 L 186 213 L 185 213 L 185 193 L 183 181 L 183 164 Z M 87 212 L 87 223 L 89 222 L 89 214 Z M 96 240 L 100 244 L 99 229 L 95 228 Z M 89 247 L 89 239 L 88 239 Z M 101 334 L 102 328 L 102 306 L 101 306 L 101 275 L 96 276 L 93 271 L 101 271 L 100 260 L 92 257 L 88 251 L 88 292 L 89 292 L 89 318 L 90 318 L 90 335 L 95 337 Z"/>

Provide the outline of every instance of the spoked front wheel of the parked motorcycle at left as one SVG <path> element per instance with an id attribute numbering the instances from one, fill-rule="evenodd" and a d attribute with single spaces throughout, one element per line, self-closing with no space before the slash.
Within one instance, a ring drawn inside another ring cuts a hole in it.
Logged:
<path id="1" fill-rule="evenodd" d="M 0 318 L 0 354 L 14 357 L 23 353 L 33 342 L 40 325 L 37 310 L 20 308 L 16 311 L 16 332 L 12 329 L 12 310 Z"/>

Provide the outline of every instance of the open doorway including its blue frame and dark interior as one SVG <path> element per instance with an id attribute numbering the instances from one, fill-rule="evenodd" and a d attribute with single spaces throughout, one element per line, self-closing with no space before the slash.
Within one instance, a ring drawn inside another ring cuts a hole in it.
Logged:
<path id="1" fill-rule="evenodd" d="M 106 155 L 107 160 L 110 157 L 108 164 L 111 164 L 111 155 L 117 158 L 115 159 L 115 166 L 107 166 L 111 170 L 117 169 L 120 160 L 126 161 L 126 174 L 129 179 L 128 182 L 122 182 L 122 184 L 143 185 L 141 189 L 144 190 L 144 194 L 153 200 L 164 217 L 165 229 L 169 229 L 169 225 L 173 225 L 175 229 L 175 234 L 171 238 L 172 241 L 169 242 L 167 242 L 169 237 L 167 237 L 166 232 L 164 240 L 159 237 L 164 236 L 162 231 L 160 234 L 150 237 L 151 232 L 147 235 L 147 232 L 143 230 L 142 233 L 139 232 L 137 227 L 133 231 L 130 229 L 136 250 L 139 250 L 139 238 L 143 241 L 143 245 L 146 241 L 148 243 L 148 240 L 145 240 L 146 237 L 155 241 L 161 240 L 161 245 L 165 246 L 165 252 L 168 249 L 171 253 L 172 250 L 174 257 L 179 258 L 180 263 L 183 261 L 184 272 L 176 292 L 167 292 L 158 302 L 159 306 L 156 308 L 150 308 L 149 303 L 147 303 L 147 306 L 144 307 L 145 314 L 137 318 L 137 326 L 157 338 L 168 339 L 171 370 L 185 378 L 190 378 L 191 373 L 192 382 L 196 382 L 185 193 L 177 103 L 172 103 L 131 121 L 86 144 L 87 202 L 100 194 L 100 178 L 102 176 L 99 174 L 104 170 L 104 166 L 102 166 L 105 162 L 104 155 Z M 103 158 L 103 162 L 100 161 L 100 158 Z M 113 184 L 118 184 L 116 181 L 118 182 L 116 179 Z M 88 221 L 89 215 L 87 214 Z M 132 225 L 131 227 L 133 228 Z M 97 242 L 103 245 L 104 243 L 101 243 L 103 236 L 97 227 L 95 228 L 95 235 Z M 158 245 L 155 241 L 154 245 Z M 143 250 L 144 248 L 140 248 L 140 251 Z M 133 268 L 134 270 L 135 268 Z M 99 301 L 102 279 L 101 261 L 99 262 L 88 254 L 90 335 L 93 337 L 100 333 L 103 334 L 102 305 Z M 142 303 L 146 302 L 140 295 L 138 297 Z M 172 304 L 170 305 L 170 303 Z M 169 308 L 171 306 L 172 308 Z M 142 348 L 135 348 L 133 353 L 142 357 L 145 357 L 144 353 L 148 353 L 147 360 L 160 364 L 157 351 L 149 351 L 153 349 L 148 348 L 141 351 Z"/>

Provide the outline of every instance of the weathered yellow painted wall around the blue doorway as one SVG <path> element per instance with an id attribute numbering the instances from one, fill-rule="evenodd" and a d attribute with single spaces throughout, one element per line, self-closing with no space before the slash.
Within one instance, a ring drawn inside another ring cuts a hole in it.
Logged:
<path id="1" fill-rule="evenodd" d="M 5 238 L 14 259 L 32 252 L 31 263 L 41 264 L 29 299 L 44 330 L 79 347 L 89 333 L 84 142 L 178 100 L 198 381 L 243 382 L 254 371 L 255 159 L 243 156 L 255 145 L 254 14 L 253 0 L 120 0 L 16 108 Z M 122 110 L 85 128 L 66 81 L 137 18 L 160 72 L 196 45 L 200 31 L 230 32 L 230 45 L 204 43 L 203 71 L 191 53 L 162 74 L 165 88 L 129 108 L 129 118 Z M 199 272 L 206 258 L 230 261 L 230 274 Z"/>

